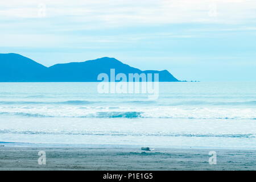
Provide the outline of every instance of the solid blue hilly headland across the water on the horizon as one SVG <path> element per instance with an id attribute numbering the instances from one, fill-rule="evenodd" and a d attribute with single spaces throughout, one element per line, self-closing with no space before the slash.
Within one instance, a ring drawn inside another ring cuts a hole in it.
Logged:
<path id="1" fill-rule="evenodd" d="M 159 81 L 179 81 L 167 70 L 141 71 L 110 57 L 77 63 L 42 64 L 16 53 L 0 53 L 0 82 L 97 82 L 100 73 L 159 73 Z"/>

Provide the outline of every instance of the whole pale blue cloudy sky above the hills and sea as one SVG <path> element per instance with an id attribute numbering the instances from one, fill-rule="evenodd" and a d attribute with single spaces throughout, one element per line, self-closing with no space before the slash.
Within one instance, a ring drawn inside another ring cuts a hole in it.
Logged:
<path id="1" fill-rule="evenodd" d="M 0 53 L 115 57 L 179 80 L 256 81 L 255 0 L 1 0 Z"/>

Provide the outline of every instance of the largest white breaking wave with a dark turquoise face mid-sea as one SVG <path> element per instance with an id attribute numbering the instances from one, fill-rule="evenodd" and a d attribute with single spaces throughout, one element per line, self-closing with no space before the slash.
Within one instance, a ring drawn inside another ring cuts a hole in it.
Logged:
<path id="1" fill-rule="evenodd" d="M 51 118 L 170 118 L 170 119 L 256 119 L 254 113 L 189 113 L 189 111 L 184 113 L 153 113 L 153 111 L 81 111 L 76 113 L 75 111 L 51 111 L 51 112 L 0 112 L 0 115 L 19 115 L 22 117 L 51 117 Z"/>

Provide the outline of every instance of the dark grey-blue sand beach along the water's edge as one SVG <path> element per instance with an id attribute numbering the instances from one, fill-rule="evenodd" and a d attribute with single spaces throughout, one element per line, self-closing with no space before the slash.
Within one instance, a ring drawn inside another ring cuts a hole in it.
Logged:
<path id="1" fill-rule="evenodd" d="M 46 152 L 46 165 L 38 152 Z M 210 165 L 206 149 L 0 147 L 0 170 L 256 170 L 255 150 L 214 150 Z"/>

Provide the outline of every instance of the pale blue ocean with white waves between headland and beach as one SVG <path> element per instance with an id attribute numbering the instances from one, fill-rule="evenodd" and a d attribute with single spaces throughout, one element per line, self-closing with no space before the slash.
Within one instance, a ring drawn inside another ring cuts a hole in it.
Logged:
<path id="1" fill-rule="evenodd" d="M 96 82 L 0 83 L 0 142 L 255 148 L 256 82 L 160 82 L 147 94 Z"/>

